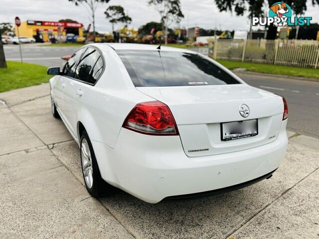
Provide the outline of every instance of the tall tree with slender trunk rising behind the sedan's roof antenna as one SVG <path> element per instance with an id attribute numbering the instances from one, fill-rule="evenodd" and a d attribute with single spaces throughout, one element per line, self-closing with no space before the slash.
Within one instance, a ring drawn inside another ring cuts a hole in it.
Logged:
<path id="1" fill-rule="evenodd" d="M 149 5 L 155 5 L 160 12 L 160 21 L 162 22 L 162 30 L 165 26 L 165 44 L 167 44 L 167 25 L 169 22 L 179 23 L 184 17 L 180 9 L 179 0 L 149 0 Z"/>

